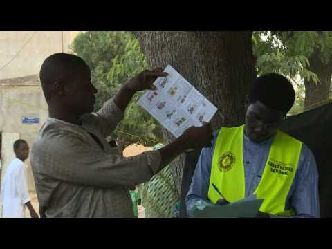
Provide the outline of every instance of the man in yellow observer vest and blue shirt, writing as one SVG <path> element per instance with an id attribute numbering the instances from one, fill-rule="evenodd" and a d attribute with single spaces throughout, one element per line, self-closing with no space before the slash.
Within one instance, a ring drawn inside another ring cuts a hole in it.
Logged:
<path id="1" fill-rule="evenodd" d="M 294 100 L 286 77 L 257 78 L 246 123 L 222 127 L 212 147 L 201 151 L 186 198 L 189 215 L 202 202 L 227 204 L 256 194 L 264 199 L 257 216 L 320 216 L 315 158 L 303 142 L 278 129 Z"/>

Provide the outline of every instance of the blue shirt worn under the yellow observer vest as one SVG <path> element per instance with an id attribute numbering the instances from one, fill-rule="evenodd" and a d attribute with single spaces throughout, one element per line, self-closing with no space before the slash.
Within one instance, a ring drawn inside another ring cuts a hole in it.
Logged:
<path id="1" fill-rule="evenodd" d="M 208 201 L 212 156 L 218 133 L 219 131 L 214 132 L 212 147 L 203 148 L 197 162 L 192 184 L 185 201 L 189 215 L 197 201 Z M 255 192 L 261 181 L 272 141 L 273 137 L 256 143 L 252 142 L 246 135 L 243 136 L 246 197 Z M 299 165 L 286 200 L 286 210 L 290 208 L 295 210 L 297 217 L 320 217 L 317 165 L 313 153 L 304 144 L 302 144 Z"/>

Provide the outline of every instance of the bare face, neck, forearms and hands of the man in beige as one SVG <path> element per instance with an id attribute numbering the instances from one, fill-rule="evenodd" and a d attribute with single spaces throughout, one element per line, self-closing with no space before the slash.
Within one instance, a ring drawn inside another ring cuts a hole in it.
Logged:
<path id="1" fill-rule="evenodd" d="M 71 78 L 59 77 L 62 80 L 53 82 L 50 97 L 47 100 L 48 111 L 51 118 L 82 125 L 80 116 L 93 111 L 97 89 L 91 83 L 90 69 L 86 64 L 82 65 L 74 75 L 75 77 Z M 119 109 L 124 111 L 136 92 L 145 89 L 154 90 L 156 87 L 153 82 L 156 78 L 165 76 L 167 73 L 163 73 L 161 68 L 142 71 L 124 84 L 113 100 Z M 158 150 L 161 154 L 160 170 L 188 149 L 210 147 L 212 137 L 210 124 L 205 124 L 203 127 L 190 127 L 174 142 Z"/>

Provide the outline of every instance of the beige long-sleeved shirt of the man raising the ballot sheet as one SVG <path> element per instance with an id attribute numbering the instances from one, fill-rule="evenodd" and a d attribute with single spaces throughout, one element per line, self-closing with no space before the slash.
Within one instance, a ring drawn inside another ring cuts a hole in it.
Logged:
<path id="1" fill-rule="evenodd" d="M 82 126 L 46 120 L 30 157 L 42 216 L 133 217 L 128 187 L 149 181 L 161 156 L 120 156 L 105 138 L 122 118 L 111 99 L 97 113 L 81 116 Z"/>

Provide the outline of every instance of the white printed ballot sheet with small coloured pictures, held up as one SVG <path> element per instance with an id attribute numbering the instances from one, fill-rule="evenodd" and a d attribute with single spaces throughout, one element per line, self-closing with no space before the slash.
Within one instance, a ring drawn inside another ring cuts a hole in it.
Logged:
<path id="1" fill-rule="evenodd" d="M 167 77 L 158 77 L 156 90 L 146 91 L 138 104 L 178 138 L 187 128 L 210 122 L 217 108 L 172 66 L 165 72 Z"/>

